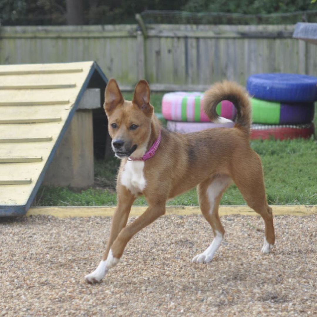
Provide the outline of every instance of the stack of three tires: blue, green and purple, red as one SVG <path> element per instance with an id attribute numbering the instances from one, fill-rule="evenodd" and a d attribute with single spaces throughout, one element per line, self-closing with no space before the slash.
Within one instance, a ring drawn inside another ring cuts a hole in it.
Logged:
<path id="1" fill-rule="evenodd" d="M 314 134 L 317 78 L 300 74 L 254 74 L 246 85 L 251 97 L 251 139 L 309 138 Z"/>

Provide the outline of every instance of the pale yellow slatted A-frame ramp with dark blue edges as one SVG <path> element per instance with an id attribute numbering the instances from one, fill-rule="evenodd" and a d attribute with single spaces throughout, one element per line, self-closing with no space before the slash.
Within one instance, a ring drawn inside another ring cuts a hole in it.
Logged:
<path id="1" fill-rule="evenodd" d="M 0 216 L 29 209 L 86 88 L 94 61 L 0 65 Z"/>

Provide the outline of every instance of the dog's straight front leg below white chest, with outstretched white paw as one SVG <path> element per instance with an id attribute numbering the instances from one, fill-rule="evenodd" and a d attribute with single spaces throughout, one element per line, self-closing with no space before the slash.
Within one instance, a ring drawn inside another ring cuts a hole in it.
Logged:
<path id="1" fill-rule="evenodd" d="M 109 268 L 113 267 L 118 262 L 118 260 L 113 257 L 110 247 L 122 228 L 126 226 L 134 200 L 135 196 L 132 195 L 130 191 L 126 190 L 125 187 L 122 186 L 122 188 L 118 189 L 118 205 L 113 214 L 107 247 L 102 255 L 102 260 L 100 261 L 98 267 L 94 270 L 94 272 L 85 276 L 87 283 L 94 284 L 100 282 L 106 275 Z"/>

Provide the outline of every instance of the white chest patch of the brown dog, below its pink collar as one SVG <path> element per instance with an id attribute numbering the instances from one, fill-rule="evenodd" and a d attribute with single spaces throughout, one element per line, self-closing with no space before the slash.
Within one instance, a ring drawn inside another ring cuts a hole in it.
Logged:
<path id="1" fill-rule="evenodd" d="M 146 186 L 143 173 L 143 161 L 127 161 L 121 174 L 121 184 L 126 186 L 133 195 L 142 192 Z"/>

